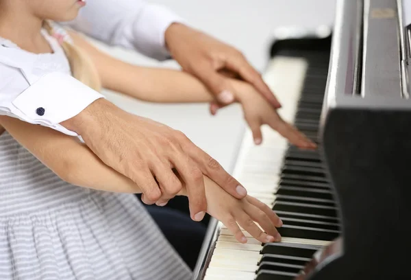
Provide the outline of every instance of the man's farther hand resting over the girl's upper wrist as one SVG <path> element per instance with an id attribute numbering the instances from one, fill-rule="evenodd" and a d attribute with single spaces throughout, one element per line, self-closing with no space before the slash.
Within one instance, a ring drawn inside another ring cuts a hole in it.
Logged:
<path id="1" fill-rule="evenodd" d="M 216 96 L 219 105 L 212 103 L 213 114 L 217 108 L 234 102 L 234 89 L 223 71 L 252 84 L 274 108 L 281 107 L 260 73 L 234 47 L 180 23 L 173 23 L 166 30 L 165 40 L 171 56 L 184 71 L 199 78 Z"/>

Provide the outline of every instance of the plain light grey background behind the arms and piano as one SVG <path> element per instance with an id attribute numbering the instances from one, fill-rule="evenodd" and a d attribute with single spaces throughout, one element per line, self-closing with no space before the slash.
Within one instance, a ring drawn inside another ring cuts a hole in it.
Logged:
<path id="1" fill-rule="evenodd" d="M 171 8 L 208 34 L 240 49 L 251 64 L 264 72 L 277 27 L 332 25 L 334 0 L 151 0 Z M 175 62 L 156 62 L 132 51 L 107 49 L 137 65 L 177 68 Z M 210 116 L 207 104 L 150 104 L 107 92 L 109 100 L 129 112 L 150 117 L 182 130 L 200 148 L 232 172 L 245 122 L 240 107 L 229 106 Z"/>

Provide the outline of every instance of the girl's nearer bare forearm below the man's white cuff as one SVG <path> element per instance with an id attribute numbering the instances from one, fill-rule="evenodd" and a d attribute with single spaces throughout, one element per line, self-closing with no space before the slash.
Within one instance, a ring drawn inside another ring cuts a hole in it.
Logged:
<path id="1" fill-rule="evenodd" d="M 0 116 L 0 125 L 68 183 L 103 191 L 141 193 L 132 180 L 105 165 L 75 137 L 6 116 Z"/>

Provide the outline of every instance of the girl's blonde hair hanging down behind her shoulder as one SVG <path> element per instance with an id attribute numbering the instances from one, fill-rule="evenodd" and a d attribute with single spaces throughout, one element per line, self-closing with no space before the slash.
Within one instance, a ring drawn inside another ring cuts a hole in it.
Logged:
<path id="1" fill-rule="evenodd" d="M 43 27 L 51 36 L 57 34 L 53 24 L 49 21 L 45 21 Z M 66 53 L 67 60 L 69 60 L 73 77 L 95 91 L 100 91 L 101 80 L 91 58 L 80 47 L 69 43 L 67 40 L 63 40 L 61 46 Z"/>

